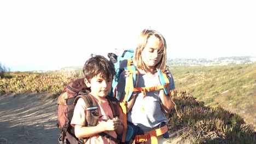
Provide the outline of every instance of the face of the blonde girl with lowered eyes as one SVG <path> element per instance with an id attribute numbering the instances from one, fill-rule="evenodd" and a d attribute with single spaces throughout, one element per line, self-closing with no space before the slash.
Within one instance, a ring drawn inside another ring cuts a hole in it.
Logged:
<path id="1" fill-rule="evenodd" d="M 148 66 L 148 68 L 154 68 L 162 58 L 163 50 L 161 50 L 162 44 L 155 36 L 148 38 L 147 44 L 142 50 L 142 61 Z"/>

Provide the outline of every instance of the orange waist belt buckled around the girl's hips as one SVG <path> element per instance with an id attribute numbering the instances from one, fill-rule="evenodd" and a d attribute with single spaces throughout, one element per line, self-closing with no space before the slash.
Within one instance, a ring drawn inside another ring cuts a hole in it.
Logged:
<path id="1" fill-rule="evenodd" d="M 149 139 L 151 139 L 151 143 L 158 143 L 158 139 L 156 138 L 156 136 L 163 135 L 167 131 L 168 131 L 168 128 L 167 128 L 167 125 L 165 125 L 164 127 L 151 130 L 147 134 L 136 135 L 135 142 L 144 142 L 144 141 L 148 141 Z"/>

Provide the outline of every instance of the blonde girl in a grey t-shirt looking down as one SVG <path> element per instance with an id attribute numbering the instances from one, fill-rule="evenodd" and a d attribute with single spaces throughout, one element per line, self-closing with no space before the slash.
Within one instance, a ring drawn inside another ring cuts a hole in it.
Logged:
<path id="1" fill-rule="evenodd" d="M 139 35 L 132 63 L 136 67 L 136 87 L 160 86 L 156 69 L 160 69 L 161 72 L 166 70 L 166 41 L 164 37 L 159 32 L 144 29 Z M 121 92 L 124 89 L 124 77 L 129 74 L 128 70 L 124 70 L 120 74 L 117 91 Z M 171 74 L 168 76 L 168 80 L 170 82 L 169 90 L 174 89 Z M 164 89 L 146 92 L 146 94 L 133 92 L 130 101 L 127 101 L 127 122 L 133 123 L 144 134 L 147 134 L 168 123 L 165 113 L 169 113 L 173 105 L 170 97 L 164 93 Z M 156 138 L 158 143 L 164 142 L 162 135 Z M 144 143 L 151 143 L 151 141 L 149 139 Z"/>

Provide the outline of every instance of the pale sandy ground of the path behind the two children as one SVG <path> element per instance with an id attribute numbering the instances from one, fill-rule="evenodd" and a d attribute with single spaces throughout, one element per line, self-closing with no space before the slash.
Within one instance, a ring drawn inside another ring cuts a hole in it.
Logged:
<path id="1" fill-rule="evenodd" d="M 0 101 L 0 144 L 59 143 L 57 99 L 51 94 L 5 94 Z M 181 137 L 173 136 L 166 143 L 179 140 Z"/>

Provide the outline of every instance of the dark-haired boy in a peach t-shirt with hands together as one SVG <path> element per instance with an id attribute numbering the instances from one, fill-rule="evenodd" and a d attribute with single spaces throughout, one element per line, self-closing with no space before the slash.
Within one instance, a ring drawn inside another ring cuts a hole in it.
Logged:
<path id="1" fill-rule="evenodd" d="M 107 136 L 98 135 L 103 132 L 117 139 L 124 130 L 122 110 L 119 107 L 119 117 L 113 118 L 113 112 L 110 109 L 106 96 L 111 87 L 115 74 L 115 68 L 112 62 L 103 56 L 95 56 L 85 62 L 83 73 L 85 75 L 85 84 L 91 88 L 90 94 L 97 101 L 98 119 L 94 127 L 86 127 L 86 107 L 83 99 L 77 101 L 74 109 L 71 125 L 75 129 L 75 136 L 78 138 L 89 137 L 86 143 L 117 143 L 117 141 L 107 139 Z"/>

